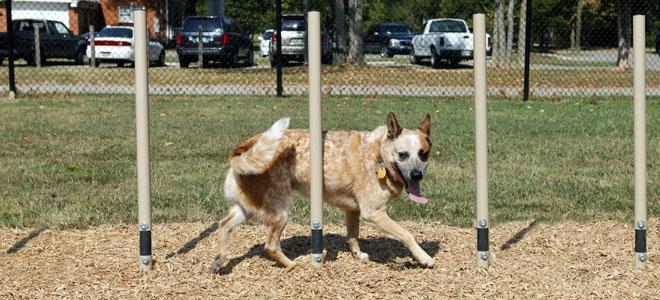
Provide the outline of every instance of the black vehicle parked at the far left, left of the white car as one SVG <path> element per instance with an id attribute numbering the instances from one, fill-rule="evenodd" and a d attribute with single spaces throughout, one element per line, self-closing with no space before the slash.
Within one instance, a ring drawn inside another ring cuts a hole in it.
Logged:
<path id="1" fill-rule="evenodd" d="M 31 66 L 36 65 L 34 28 L 39 28 L 40 60 L 44 63 L 48 58 L 68 58 L 76 64 L 82 64 L 85 59 L 87 43 L 85 39 L 74 35 L 62 22 L 41 19 L 17 19 L 12 21 L 14 32 L 14 53 L 16 59 L 25 59 Z M 0 56 L 9 54 L 7 33 L 0 33 Z M 2 54 L 4 53 L 4 54 Z"/>

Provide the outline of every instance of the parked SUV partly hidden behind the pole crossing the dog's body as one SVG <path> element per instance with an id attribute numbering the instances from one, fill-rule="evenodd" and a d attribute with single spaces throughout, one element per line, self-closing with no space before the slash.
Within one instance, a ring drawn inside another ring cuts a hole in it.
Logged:
<path id="1" fill-rule="evenodd" d="M 282 43 L 282 64 L 289 61 L 305 60 L 305 43 L 307 42 L 307 22 L 302 14 L 282 15 L 282 36 L 277 36 L 273 32 L 272 43 L 270 45 L 270 65 L 275 66 L 275 53 L 277 51 L 277 40 Z M 321 25 L 321 62 L 329 64 L 332 62 L 332 41 Z"/>

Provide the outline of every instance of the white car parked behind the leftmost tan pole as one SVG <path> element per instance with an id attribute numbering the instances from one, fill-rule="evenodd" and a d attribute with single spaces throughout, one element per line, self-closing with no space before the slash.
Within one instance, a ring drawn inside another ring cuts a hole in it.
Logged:
<path id="1" fill-rule="evenodd" d="M 94 57 L 96 66 L 101 63 L 115 63 L 118 67 L 135 62 L 133 27 L 108 26 L 99 31 L 94 38 Z M 159 42 L 149 40 L 149 63 L 165 65 L 165 47 Z M 87 47 L 87 57 L 92 57 L 91 42 Z"/>

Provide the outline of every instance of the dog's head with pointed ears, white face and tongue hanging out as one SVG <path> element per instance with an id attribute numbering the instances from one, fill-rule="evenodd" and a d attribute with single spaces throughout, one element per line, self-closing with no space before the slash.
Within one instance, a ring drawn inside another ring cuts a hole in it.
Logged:
<path id="1" fill-rule="evenodd" d="M 421 194 L 420 181 L 426 175 L 431 158 L 431 116 L 426 114 L 422 124 L 403 129 L 394 113 L 387 115 L 387 141 L 381 156 L 403 180 L 408 198 L 415 203 L 428 202 Z"/>

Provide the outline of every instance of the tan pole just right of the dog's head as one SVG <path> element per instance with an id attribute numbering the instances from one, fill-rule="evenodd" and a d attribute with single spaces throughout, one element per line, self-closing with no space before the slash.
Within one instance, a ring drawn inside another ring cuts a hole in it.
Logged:
<path id="1" fill-rule="evenodd" d="M 473 15 L 474 117 L 477 189 L 477 267 L 488 267 L 488 134 L 486 104 L 486 18 Z"/>

